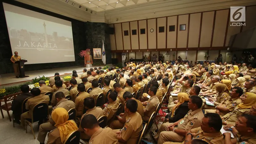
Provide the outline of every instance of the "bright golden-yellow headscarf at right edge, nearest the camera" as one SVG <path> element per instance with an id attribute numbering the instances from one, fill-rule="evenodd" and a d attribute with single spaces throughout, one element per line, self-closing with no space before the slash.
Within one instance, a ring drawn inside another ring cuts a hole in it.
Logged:
<path id="1" fill-rule="evenodd" d="M 252 108 L 252 105 L 255 104 L 255 102 L 256 102 L 256 94 L 251 93 L 251 92 L 246 92 L 245 95 L 247 95 L 247 98 L 244 101 L 244 103 L 240 103 L 239 105 L 237 105 L 238 109 Z"/>

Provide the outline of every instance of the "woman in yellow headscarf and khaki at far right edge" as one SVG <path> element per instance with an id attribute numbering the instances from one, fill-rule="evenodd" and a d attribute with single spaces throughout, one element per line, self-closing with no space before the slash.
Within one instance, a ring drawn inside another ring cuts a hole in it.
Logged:
<path id="1" fill-rule="evenodd" d="M 221 117 L 221 119 L 225 120 L 222 122 L 223 125 L 233 124 L 238 120 L 242 114 L 249 114 L 250 108 L 252 108 L 253 104 L 256 102 L 256 94 L 251 92 L 246 92 L 242 97 L 242 103 L 236 106 L 233 112 L 226 114 Z"/>

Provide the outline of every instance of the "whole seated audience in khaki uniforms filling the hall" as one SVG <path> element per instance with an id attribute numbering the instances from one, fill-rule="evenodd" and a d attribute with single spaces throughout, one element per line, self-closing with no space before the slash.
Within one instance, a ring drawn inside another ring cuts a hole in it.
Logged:
<path id="1" fill-rule="evenodd" d="M 48 121 L 38 123 L 40 143 L 44 143 L 48 132 L 48 143 L 63 143 L 75 130 L 79 130 L 80 139 L 89 143 L 137 143 L 143 123 L 158 113 L 159 103 L 165 99 L 166 116 L 159 130 L 150 132 L 152 143 L 256 143 L 256 78 L 252 66 L 209 61 L 195 64 L 131 62 L 126 68 L 108 68 L 106 74 L 101 68 L 84 69 L 82 75 L 73 71 L 69 90 L 56 73 L 51 78 L 52 88 L 44 81 L 32 90 L 28 85 L 21 86 L 22 94 L 12 104 L 15 122 L 25 126 L 33 107 L 45 102 L 50 113 Z M 115 74 L 117 81 L 113 79 Z M 98 84 L 100 77 L 102 88 Z M 46 92 L 53 93 L 51 100 L 44 95 Z M 96 107 L 101 93 L 108 102 Z M 67 100 L 67 95 L 72 100 Z M 26 98 L 28 112 L 22 114 L 20 108 Z M 117 116 L 119 104 L 122 110 Z M 76 123 L 66 116 L 72 108 L 79 118 Z M 99 127 L 97 120 L 101 116 L 107 116 L 108 127 Z M 69 132 L 63 133 L 62 125 Z M 222 127 L 232 130 L 235 138 L 228 132 L 221 133 Z"/>

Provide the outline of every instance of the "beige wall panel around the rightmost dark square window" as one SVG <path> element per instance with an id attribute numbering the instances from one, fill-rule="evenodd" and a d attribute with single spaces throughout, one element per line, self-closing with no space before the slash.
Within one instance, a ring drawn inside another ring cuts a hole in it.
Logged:
<path id="1" fill-rule="evenodd" d="M 186 30 L 180 31 L 180 25 L 186 24 Z M 178 45 L 177 48 L 187 47 L 187 36 L 188 36 L 188 14 L 179 16 L 178 25 Z"/>

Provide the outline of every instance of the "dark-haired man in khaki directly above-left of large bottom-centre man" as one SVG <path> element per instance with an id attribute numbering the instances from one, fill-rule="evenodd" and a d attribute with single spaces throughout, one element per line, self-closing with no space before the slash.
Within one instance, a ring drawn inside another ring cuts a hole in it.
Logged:
<path id="1" fill-rule="evenodd" d="M 117 94 L 116 92 L 110 92 L 108 97 L 108 105 L 103 109 L 104 115 L 108 117 L 108 122 L 113 116 L 116 114 L 117 108 L 119 106 L 118 102 L 116 101 Z"/>

